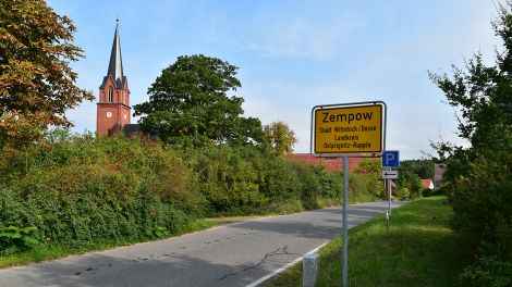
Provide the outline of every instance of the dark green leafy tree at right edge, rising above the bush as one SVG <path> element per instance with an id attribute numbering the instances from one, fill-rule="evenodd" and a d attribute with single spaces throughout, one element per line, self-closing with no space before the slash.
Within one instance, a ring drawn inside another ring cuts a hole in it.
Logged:
<path id="1" fill-rule="evenodd" d="M 509 8 L 512 8 L 509 1 Z M 472 162 L 504 151 L 504 136 L 512 132 L 512 15 L 503 7 L 492 22 L 504 51 L 496 51 L 496 64 L 486 66 L 481 53 L 466 61 L 463 71 L 429 73 L 430 79 L 444 92 L 448 103 L 460 111 L 459 136 L 471 142 L 470 149 L 450 142 L 435 142 L 440 161 L 447 163 L 446 179 L 455 180 L 470 172 Z"/>

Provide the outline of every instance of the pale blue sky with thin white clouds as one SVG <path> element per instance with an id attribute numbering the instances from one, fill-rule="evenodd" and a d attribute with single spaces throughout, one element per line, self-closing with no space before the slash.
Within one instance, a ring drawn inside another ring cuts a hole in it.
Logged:
<path id="1" fill-rule="evenodd" d="M 287 123 L 310 150 L 312 108 L 363 101 L 387 104 L 386 147 L 401 159 L 435 154 L 429 142 L 467 145 L 455 110 L 428 71 L 481 52 L 492 64 L 501 42 L 490 22 L 497 0 L 49 0 L 75 24 L 85 59 L 77 85 L 98 97 L 119 17 L 131 104 L 179 55 L 205 54 L 239 66 L 244 115 Z M 66 113 L 73 132 L 96 129 L 96 102 Z M 132 123 L 137 118 L 132 118 Z"/>

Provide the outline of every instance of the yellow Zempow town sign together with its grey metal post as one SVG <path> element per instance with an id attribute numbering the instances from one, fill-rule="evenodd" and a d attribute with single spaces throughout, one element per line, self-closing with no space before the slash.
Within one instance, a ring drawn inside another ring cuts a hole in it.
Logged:
<path id="1" fill-rule="evenodd" d="M 383 101 L 367 101 L 312 110 L 312 154 L 343 159 L 343 287 L 349 286 L 349 155 L 377 157 L 386 149 L 386 109 Z"/>

